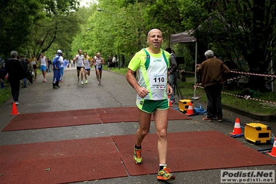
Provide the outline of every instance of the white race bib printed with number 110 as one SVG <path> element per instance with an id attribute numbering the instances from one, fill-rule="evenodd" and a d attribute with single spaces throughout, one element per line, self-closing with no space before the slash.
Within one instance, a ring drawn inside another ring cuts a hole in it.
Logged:
<path id="1" fill-rule="evenodd" d="M 149 75 L 150 89 L 165 89 L 167 82 L 167 74 L 165 73 L 151 73 Z"/>

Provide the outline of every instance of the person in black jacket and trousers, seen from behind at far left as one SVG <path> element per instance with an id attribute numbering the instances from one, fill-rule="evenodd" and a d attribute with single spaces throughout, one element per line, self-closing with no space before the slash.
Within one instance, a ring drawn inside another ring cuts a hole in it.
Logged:
<path id="1" fill-rule="evenodd" d="M 5 64 L 6 73 L 8 73 L 8 81 L 10 82 L 10 88 L 12 92 L 12 98 L 16 105 L 19 105 L 19 88 L 20 80 L 26 75 L 25 68 L 17 59 L 17 51 L 12 50 L 10 52 L 11 58 Z"/>

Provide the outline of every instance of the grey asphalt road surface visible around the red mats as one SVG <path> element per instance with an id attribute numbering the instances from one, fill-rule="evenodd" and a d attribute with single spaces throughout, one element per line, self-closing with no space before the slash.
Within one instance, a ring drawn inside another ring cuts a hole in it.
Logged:
<path id="1" fill-rule="evenodd" d="M 136 93 L 125 80 L 125 75 L 103 71 L 102 84 L 98 85 L 95 78 L 95 70 L 92 69 L 88 84 L 77 83 L 75 68 L 67 68 L 64 71 L 64 82 L 60 83 L 60 89 L 52 89 L 51 80 L 53 73 L 47 73 L 48 81 L 42 82 L 42 75 L 39 75 L 33 85 L 26 89 L 20 89 L 19 102 L 17 107 L 19 113 L 35 113 L 48 111 L 67 111 L 74 109 L 94 109 L 107 107 L 134 107 Z M 185 98 L 185 97 L 184 97 Z M 186 97 L 189 99 L 190 97 Z M 178 100 L 179 98 L 176 97 Z M 195 103 L 199 103 L 196 101 Z M 202 104 L 206 108 L 205 104 Z M 174 104 L 178 107 L 178 104 Z M 12 111 L 12 99 L 0 106 L 0 129 L 8 125 L 8 122 L 15 116 L 10 116 Z M 248 122 L 259 122 L 248 117 L 240 116 L 237 113 L 223 110 L 224 117 L 230 121 L 240 119 L 241 125 Z M 192 120 L 169 121 L 169 132 L 178 131 L 205 131 L 217 130 L 223 134 L 232 131 L 232 122 L 203 122 L 203 116 L 192 116 Z M 261 122 L 272 127 L 273 134 L 276 134 L 274 122 Z M 108 123 L 100 125 L 82 125 L 74 127 L 59 127 L 52 129 L 35 129 L 25 131 L 0 132 L 0 145 L 14 145 L 30 142 L 46 142 L 55 140 L 68 140 L 77 138 L 91 138 L 112 135 L 135 134 L 138 122 L 130 123 Z M 150 134 L 154 134 L 154 123 L 151 123 Z M 252 149 L 270 147 L 270 145 L 252 145 L 244 138 L 237 138 Z M 242 154 L 242 153 L 241 153 Z M 214 155 L 215 156 L 215 155 Z M 185 159 L 185 158 L 183 158 Z M 234 160 L 233 160 L 234 161 Z M 116 169 L 116 168 L 113 168 Z M 172 168 L 173 169 L 173 168 Z M 237 168 L 241 169 L 241 168 Z M 260 167 L 243 167 L 242 169 L 275 169 L 275 165 Z M 220 169 L 203 170 L 196 172 L 178 172 L 176 181 L 171 183 L 220 183 Z M 156 166 L 157 172 L 157 166 Z M 0 176 L 1 177 L 1 176 Z M 1 178 L 0 178 L 1 179 Z M 89 181 L 88 183 L 95 183 Z M 100 180 L 96 183 L 160 183 L 156 181 L 155 175 L 128 176 L 125 178 L 111 178 Z"/>

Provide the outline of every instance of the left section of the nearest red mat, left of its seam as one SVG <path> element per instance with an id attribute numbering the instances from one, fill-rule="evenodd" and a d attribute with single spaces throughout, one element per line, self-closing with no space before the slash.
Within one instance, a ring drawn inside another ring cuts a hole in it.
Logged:
<path id="1" fill-rule="evenodd" d="M 1 146 L 0 174 L 0 183 L 51 184 L 127 176 L 111 137 Z"/>

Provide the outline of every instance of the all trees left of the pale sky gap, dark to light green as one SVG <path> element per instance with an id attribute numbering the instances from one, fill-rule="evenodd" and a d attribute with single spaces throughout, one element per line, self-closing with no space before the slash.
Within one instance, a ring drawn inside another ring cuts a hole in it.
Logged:
<path id="1" fill-rule="evenodd" d="M 69 50 L 69 38 L 79 27 L 74 17 L 78 5 L 78 0 L 12 0 L 3 3 L 0 55 L 8 56 L 11 50 L 17 50 L 19 55 L 30 57 L 31 53 L 35 53 L 38 57 L 51 46 L 57 46 L 53 48 L 55 52 L 64 47 Z"/>

